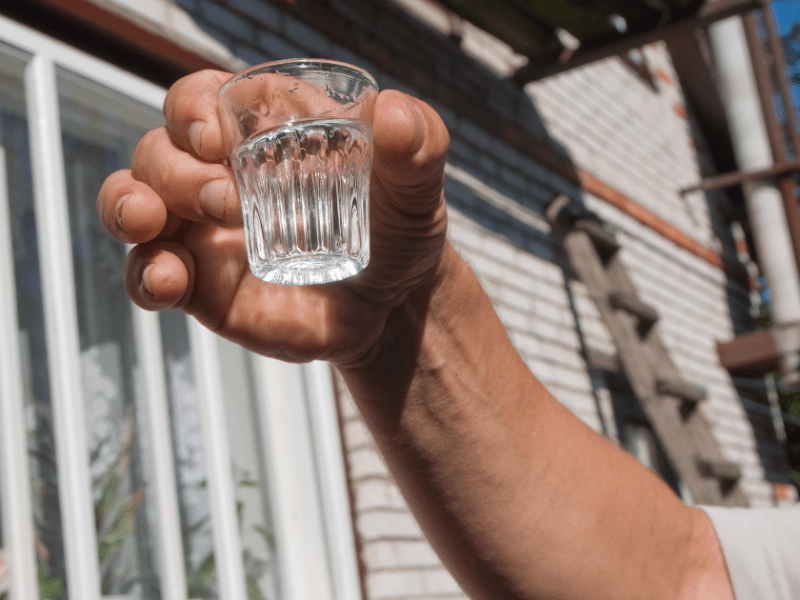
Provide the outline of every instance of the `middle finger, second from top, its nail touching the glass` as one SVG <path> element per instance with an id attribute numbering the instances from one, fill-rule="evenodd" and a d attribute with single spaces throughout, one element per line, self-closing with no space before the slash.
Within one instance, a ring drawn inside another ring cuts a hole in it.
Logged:
<path id="1" fill-rule="evenodd" d="M 131 162 L 134 179 L 160 196 L 168 211 L 191 221 L 236 226 L 241 205 L 229 167 L 181 150 L 166 128 L 147 133 Z"/>

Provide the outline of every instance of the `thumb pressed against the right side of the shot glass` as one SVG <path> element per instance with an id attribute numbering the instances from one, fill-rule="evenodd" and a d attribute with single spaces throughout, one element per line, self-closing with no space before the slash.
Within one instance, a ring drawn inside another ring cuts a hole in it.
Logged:
<path id="1" fill-rule="evenodd" d="M 373 173 L 385 200 L 411 215 L 440 204 L 450 135 L 430 106 L 402 92 L 381 92 L 373 116 Z"/>

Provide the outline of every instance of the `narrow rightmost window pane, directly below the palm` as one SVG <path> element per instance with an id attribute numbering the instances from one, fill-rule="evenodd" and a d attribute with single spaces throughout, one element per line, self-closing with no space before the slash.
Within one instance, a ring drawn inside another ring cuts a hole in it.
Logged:
<path id="1" fill-rule="evenodd" d="M 249 353 L 218 340 L 248 600 L 276 600 L 278 567 L 261 422 Z"/>

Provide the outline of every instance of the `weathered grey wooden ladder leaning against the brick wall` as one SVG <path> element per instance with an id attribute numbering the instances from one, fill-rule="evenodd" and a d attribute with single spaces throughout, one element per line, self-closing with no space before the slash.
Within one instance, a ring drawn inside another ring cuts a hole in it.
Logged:
<path id="1" fill-rule="evenodd" d="M 705 415 L 694 409 L 703 394 L 682 380 L 657 325 L 645 337 L 640 335 L 642 318 L 656 323 L 657 311 L 639 300 L 618 252 L 604 259 L 585 227 L 564 222 L 566 203 L 562 199 L 560 209 L 552 211 L 561 219 L 554 235 L 597 305 L 617 347 L 619 364 L 670 461 L 698 504 L 747 506 L 739 478 L 733 477 L 736 465 L 730 466 Z"/>

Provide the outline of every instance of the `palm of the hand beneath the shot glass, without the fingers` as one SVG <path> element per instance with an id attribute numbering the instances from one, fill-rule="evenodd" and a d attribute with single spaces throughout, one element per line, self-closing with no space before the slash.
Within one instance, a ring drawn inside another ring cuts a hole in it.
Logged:
<path id="1" fill-rule="evenodd" d="M 375 198 L 377 196 L 377 198 Z M 351 279 L 321 286 L 267 284 L 250 273 L 241 227 L 190 223 L 182 243 L 195 262 L 184 310 L 220 335 L 282 360 L 349 362 L 364 354 L 392 308 L 432 274 L 444 243 L 444 211 L 403 217 L 373 183 L 373 255 Z"/>

